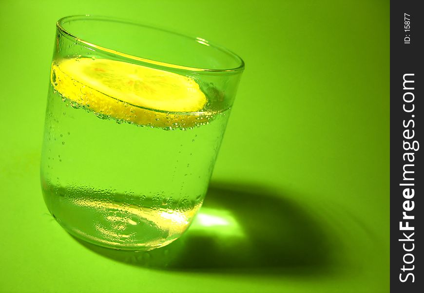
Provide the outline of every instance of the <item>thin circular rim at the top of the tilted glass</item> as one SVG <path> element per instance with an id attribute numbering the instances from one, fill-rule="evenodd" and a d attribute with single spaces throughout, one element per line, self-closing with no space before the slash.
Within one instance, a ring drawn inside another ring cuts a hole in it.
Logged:
<path id="1" fill-rule="evenodd" d="M 109 48 L 106 48 L 106 47 L 103 47 L 103 46 L 100 46 L 100 45 L 96 45 L 96 44 L 91 43 L 87 40 L 82 40 L 82 39 L 78 38 L 75 34 L 72 34 L 69 31 L 67 31 L 64 28 L 63 24 L 66 23 L 67 21 L 73 21 L 73 20 L 103 20 L 103 21 L 111 21 L 111 22 L 121 22 L 121 23 L 124 23 L 124 24 L 141 26 L 141 27 L 144 27 L 144 28 L 158 30 L 158 31 L 162 31 L 162 32 L 165 32 L 165 33 L 173 34 L 175 36 L 185 38 L 185 39 L 191 40 L 193 42 L 198 42 L 202 45 L 211 46 L 214 49 L 220 50 L 221 52 L 226 53 L 227 55 L 231 56 L 234 60 L 236 60 L 237 63 L 238 63 L 238 66 L 236 66 L 234 68 L 224 68 L 224 69 L 191 67 L 191 66 L 186 66 L 186 65 L 179 65 L 179 64 L 173 64 L 173 63 L 161 62 L 161 61 L 157 61 L 157 60 L 152 60 L 152 59 L 148 59 L 148 58 L 143 58 L 143 57 L 127 54 L 125 52 L 116 51 L 114 49 L 109 49 Z M 237 54 L 233 53 L 231 50 L 229 50 L 229 49 L 227 49 L 227 48 L 225 48 L 221 45 L 215 44 L 213 42 L 209 42 L 209 41 L 207 41 L 203 38 L 200 38 L 200 37 L 191 37 L 191 36 L 188 36 L 188 35 L 185 35 L 185 34 L 181 34 L 181 33 L 169 30 L 169 29 L 165 29 L 165 28 L 150 25 L 150 24 L 144 24 L 144 23 L 140 23 L 140 22 L 130 21 L 130 20 L 126 20 L 126 19 L 120 19 L 120 18 L 114 18 L 114 17 L 107 17 L 107 16 L 72 15 L 72 16 L 66 16 L 66 17 L 60 18 L 56 22 L 56 27 L 57 27 L 58 31 L 61 32 L 62 34 L 64 34 L 65 36 L 70 37 L 77 42 L 81 42 L 84 45 L 88 46 L 89 48 L 92 48 L 92 49 L 95 49 L 95 50 L 100 50 L 100 51 L 103 51 L 105 53 L 112 54 L 112 55 L 115 55 L 115 56 L 124 57 L 126 59 L 130 59 L 130 60 L 134 60 L 134 61 L 138 61 L 138 62 L 142 62 L 142 63 L 147 63 L 147 64 L 151 64 L 151 65 L 155 65 L 155 66 L 160 66 L 160 67 L 164 67 L 164 68 L 172 68 L 172 69 L 179 69 L 179 70 L 190 71 L 190 72 L 194 71 L 194 72 L 203 72 L 203 73 L 235 73 L 235 72 L 243 71 L 244 67 L 245 67 L 245 63 L 240 56 L 238 56 Z"/>

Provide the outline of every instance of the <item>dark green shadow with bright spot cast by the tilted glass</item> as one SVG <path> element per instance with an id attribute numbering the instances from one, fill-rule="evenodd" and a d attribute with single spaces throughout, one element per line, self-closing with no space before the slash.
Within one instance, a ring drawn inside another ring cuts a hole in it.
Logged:
<path id="1" fill-rule="evenodd" d="M 199 272 L 327 272 L 335 245 L 334 236 L 287 196 L 261 186 L 216 182 L 190 229 L 166 247 L 118 251 L 75 239 L 131 265 Z"/>

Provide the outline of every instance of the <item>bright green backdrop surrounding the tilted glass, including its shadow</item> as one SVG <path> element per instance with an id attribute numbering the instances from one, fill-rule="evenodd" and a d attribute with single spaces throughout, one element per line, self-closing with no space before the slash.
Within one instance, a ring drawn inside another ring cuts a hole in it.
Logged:
<path id="1" fill-rule="evenodd" d="M 244 239 L 194 223 L 161 267 L 160 251 L 83 245 L 48 214 L 49 66 L 55 22 L 75 14 L 168 27 L 244 59 L 205 202 L 232 212 Z M 389 1 L 0 0 L 0 35 L 0 292 L 388 292 Z"/>

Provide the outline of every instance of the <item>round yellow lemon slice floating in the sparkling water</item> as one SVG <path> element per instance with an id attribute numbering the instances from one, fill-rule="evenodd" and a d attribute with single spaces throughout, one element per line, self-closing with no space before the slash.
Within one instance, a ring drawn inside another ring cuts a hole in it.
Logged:
<path id="1" fill-rule="evenodd" d="M 52 63 L 51 82 L 62 97 L 137 125 L 192 127 L 211 115 L 192 78 L 132 63 L 62 59 Z"/>

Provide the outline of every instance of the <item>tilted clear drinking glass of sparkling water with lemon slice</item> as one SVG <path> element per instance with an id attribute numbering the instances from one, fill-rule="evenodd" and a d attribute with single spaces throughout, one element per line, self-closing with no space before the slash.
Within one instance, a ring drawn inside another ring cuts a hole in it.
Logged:
<path id="1" fill-rule="evenodd" d="M 202 205 L 243 69 L 201 38 L 60 19 L 40 171 L 53 217 L 108 248 L 177 239 Z"/>

